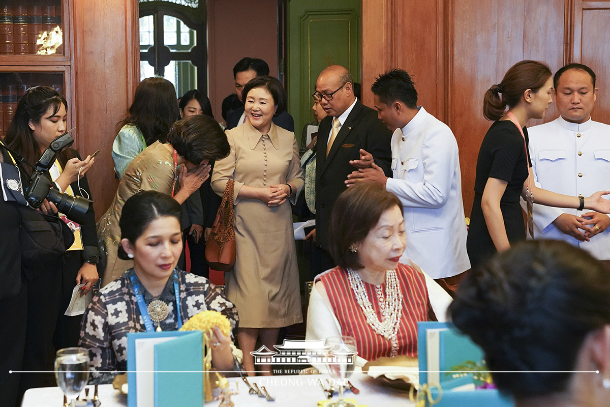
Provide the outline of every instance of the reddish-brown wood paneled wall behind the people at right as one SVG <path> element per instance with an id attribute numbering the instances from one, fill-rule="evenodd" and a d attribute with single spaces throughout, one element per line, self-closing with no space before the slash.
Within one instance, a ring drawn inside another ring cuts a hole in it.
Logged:
<path id="1" fill-rule="evenodd" d="M 594 120 L 610 123 L 609 22 L 610 1 L 362 0 L 362 98 L 372 106 L 379 73 L 412 74 L 418 103 L 456 135 L 469 215 L 476 158 L 491 124 L 483 95 L 514 63 L 541 60 L 553 72 L 568 62 L 589 65 L 600 88 Z M 545 121 L 557 116 L 551 105 Z"/>

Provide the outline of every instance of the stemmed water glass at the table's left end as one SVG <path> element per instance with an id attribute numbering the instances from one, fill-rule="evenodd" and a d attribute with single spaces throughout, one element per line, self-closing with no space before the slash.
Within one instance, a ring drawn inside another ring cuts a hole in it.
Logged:
<path id="1" fill-rule="evenodd" d="M 85 348 L 63 348 L 55 358 L 55 380 L 70 406 L 74 407 L 76 398 L 87 385 L 89 378 L 89 353 Z"/>

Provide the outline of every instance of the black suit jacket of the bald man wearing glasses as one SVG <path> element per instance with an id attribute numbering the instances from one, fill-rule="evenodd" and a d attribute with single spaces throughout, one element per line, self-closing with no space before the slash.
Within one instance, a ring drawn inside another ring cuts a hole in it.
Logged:
<path id="1" fill-rule="evenodd" d="M 332 128 L 332 117 L 320 122 L 315 167 L 315 239 L 316 245 L 328 251 L 328 223 L 332 205 L 345 191 L 345 180 L 356 168 L 350 160 L 360 159 L 360 149 L 373 154 L 375 164 L 392 176 L 392 132 L 377 118 L 377 112 L 356 102 L 326 157 L 326 145 Z"/>

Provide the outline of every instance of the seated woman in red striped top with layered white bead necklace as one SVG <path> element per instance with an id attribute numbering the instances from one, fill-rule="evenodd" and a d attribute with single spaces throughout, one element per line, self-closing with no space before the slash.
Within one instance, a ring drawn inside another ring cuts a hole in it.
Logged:
<path id="1" fill-rule="evenodd" d="M 444 320 L 451 297 L 415 264 L 406 248 L 403 206 L 370 182 L 343 192 L 332 209 L 329 247 L 339 265 L 315 278 L 307 339 L 348 335 L 358 361 L 417 356 L 417 322 Z"/>

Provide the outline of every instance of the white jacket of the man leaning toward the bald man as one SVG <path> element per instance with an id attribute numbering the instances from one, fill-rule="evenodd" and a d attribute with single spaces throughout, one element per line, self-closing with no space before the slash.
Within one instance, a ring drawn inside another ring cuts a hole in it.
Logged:
<path id="1" fill-rule="evenodd" d="M 458 143 L 447 124 L 418 106 L 419 112 L 392 135 L 393 178 L 386 188 L 404 206 L 407 248 L 411 259 L 432 278 L 470 268 Z"/>

